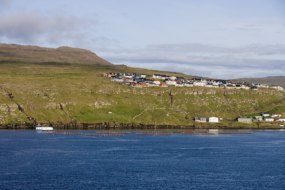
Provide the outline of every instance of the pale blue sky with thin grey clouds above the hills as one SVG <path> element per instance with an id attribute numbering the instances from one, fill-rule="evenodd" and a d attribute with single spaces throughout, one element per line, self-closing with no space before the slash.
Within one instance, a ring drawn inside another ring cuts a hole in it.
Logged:
<path id="1" fill-rule="evenodd" d="M 0 43 L 188 75 L 285 76 L 285 1 L 0 0 Z"/>

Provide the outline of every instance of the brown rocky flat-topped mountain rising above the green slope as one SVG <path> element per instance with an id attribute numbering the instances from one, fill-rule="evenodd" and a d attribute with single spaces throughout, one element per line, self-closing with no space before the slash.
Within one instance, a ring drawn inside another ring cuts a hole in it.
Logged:
<path id="1" fill-rule="evenodd" d="M 0 43 L 0 60 L 21 60 L 26 62 L 69 62 L 69 63 L 112 63 L 87 49 L 62 46 L 46 48 Z"/>

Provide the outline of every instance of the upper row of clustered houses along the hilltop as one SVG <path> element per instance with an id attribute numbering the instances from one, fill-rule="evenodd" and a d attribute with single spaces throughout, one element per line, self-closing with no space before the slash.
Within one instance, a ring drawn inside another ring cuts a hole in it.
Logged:
<path id="1" fill-rule="evenodd" d="M 185 79 L 184 77 L 168 76 L 161 74 L 153 74 L 151 79 L 147 79 L 145 74 L 139 73 L 114 73 L 109 72 L 109 74 L 103 73 L 103 77 L 109 77 L 114 82 L 121 82 L 123 85 L 129 85 L 131 87 L 150 87 L 150 86 L 160 86 L 168 87 L 169 85 L 176 87 L 193 87 L 202 86 L 206 88 L 225 88 L 225 89 L 251 89 L 258 90 L 258 88 L 274 88 L 284 91 L 281 86 L 268 86 L 266 84 L 253 84 L 249 82 L 232 82 L 229 80 L 213 80 L 213 79 L 201 79 L 192 78 Z M 160 82 L 163 80 L 163 83 Z"/>

